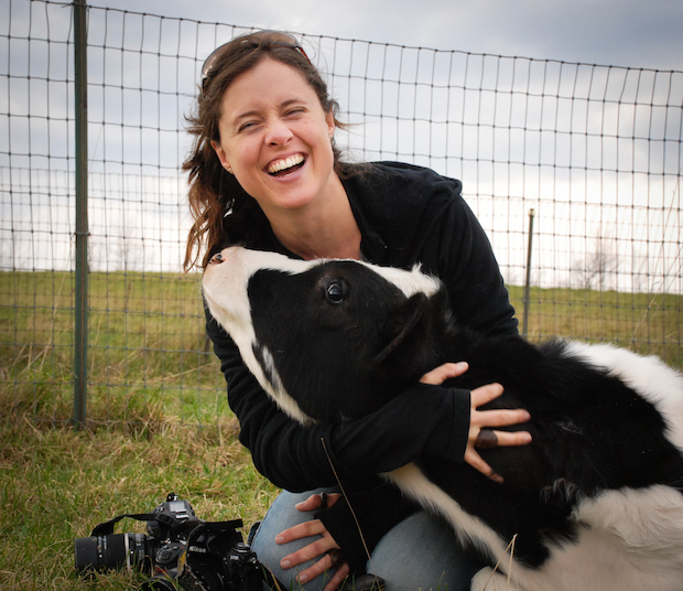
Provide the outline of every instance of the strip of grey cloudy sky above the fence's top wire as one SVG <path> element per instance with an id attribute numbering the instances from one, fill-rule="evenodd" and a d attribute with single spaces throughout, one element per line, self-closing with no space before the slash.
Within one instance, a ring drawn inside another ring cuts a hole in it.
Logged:
<path id="1" fill-rule="evenodd" d="M 683 69 L 681 0 L 87 0 L 198 21 L 549 58 Z"/>

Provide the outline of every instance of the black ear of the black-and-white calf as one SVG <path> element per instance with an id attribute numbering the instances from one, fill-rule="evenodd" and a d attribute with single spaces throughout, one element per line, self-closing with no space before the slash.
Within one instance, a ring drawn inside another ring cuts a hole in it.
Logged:
<path id="1" fill-rule="evenodd" d="M 387 326 L 388 343 L 375 356 L 372 365 L 380 366 L 398 358 L 405 359 L 409 366 L 416 365 L 420 350 L 424 345 L 425 315 L 427 313 L 427 297 L 416 293 L 392 314 Z M 400 365 L 391 363 L 390 365 Z"/>

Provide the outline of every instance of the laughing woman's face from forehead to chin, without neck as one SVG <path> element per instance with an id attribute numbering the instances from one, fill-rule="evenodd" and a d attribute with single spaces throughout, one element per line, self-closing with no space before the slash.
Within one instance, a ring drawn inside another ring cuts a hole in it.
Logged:
<path id="1" fill-rule="evenodd" d="M 212 142 L 223 166 L 235 174 L 271 218 L 324 197 L 332 182 L 334 116 L 325 112 L 303 75 L 265 58 L 226 90 Z"/>

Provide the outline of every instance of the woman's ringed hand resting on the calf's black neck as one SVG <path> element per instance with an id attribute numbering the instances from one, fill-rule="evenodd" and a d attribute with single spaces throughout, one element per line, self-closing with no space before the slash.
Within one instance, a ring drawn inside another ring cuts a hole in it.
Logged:
<path id="1" fill-rule="evenodd" d="M 420 382 L 440 386 L 446 379 L 463 375 L 468 369 L 465 362 L 446 363 L 422 376 Z M 483 474 L 496 482 L 502 482 L 502 476 L 496 474 L 490 465 L 479 455 L 475 448 L 490 449 L 498 445 L 525 445 L 531 442 L 531 433 L 527 431 L 494 431 L 491 427 L 509 427 L 527 422 L 531 416 L 527 410 L 477 410 L 480 406 L 495 400 L 503 393 L 500 384 L 488 384 L 471 390 L 469 416 L 469 433 L 465 461 Z"/>

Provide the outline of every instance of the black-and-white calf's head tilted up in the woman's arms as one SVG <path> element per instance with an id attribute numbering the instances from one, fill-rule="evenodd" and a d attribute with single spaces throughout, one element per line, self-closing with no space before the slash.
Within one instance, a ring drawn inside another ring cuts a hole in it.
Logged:
<path id="1" fill-rule="evenodd" d="M 304 423 L 371 412 L 441 362 L 445 292 L 418 269 L 231 247 L 203 286 L 251 373 Z"/>

